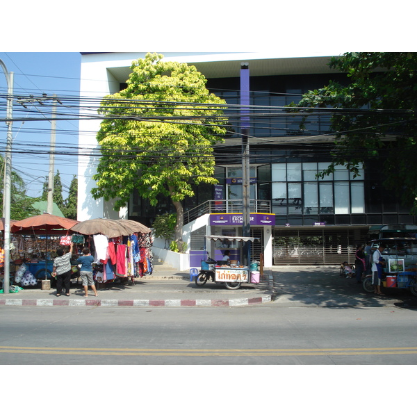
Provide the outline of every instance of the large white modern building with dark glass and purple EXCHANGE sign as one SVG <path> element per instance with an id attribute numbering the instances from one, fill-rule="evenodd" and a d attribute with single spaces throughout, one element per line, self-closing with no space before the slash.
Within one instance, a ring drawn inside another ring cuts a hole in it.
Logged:
<path id="1" fill-rule="evenodd" d="M 287 263 L 334 264 L 354 260 L 353 248 L 383 224 L 415 224 L 403 207 L 382 187 L 382 172 L 373 161 L 353 177 L 344 167 L 318 179 L 316 174 L 331 161 L 329 115 L 309 117 L 300 129 L 300 117 L 282 111 L 301 95 L 325 85 L 329 79 L 347 83 L 345 74 L 328 67 L 332 55 L 279 56 L 278 54 L 167 53 L 165 60 L 195 65 L 206 76 L 207 88 L 231 106 L 240 103 L 240 65 L 250 70 L 250 211 L 255 259 L 265 265 Z M 133 60 L 145 53 L 82 54 L 81 97 L 95 100 L 124 88 Z M 96 113 L 94 113 L 96 114 Z M 237 116 L 236 116 L 237 117 Z M 237 120 L 237 119 L 236 119 Z M 112 202 L 95 201 L 90 190 L 98 162 L 97 142 L 91 132 L 99 120 L 80 121 L 78 219 L 131 218 L 152 226 L 158 213 L 169 210 L 161 199 L 153 208 L 136 193 L 129 207 L 113 211 Z M 215 149 L 218 186 L 202 186 L 184 202 L 183 239 L 190 248 L 190 266 L 205 252 L 206 234 L 241 234 L 242 138 L 240 128 Z M 222 249 L 218 247 L 220 256 Z"/>

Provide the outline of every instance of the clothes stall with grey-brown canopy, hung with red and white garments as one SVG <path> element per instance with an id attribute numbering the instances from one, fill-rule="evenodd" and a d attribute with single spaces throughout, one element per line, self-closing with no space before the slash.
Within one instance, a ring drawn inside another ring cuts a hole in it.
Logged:
<path id="1" fill-rule="evenodd" d="M 125 283 L 152 274 L 151 229 L 133 220 L 92 219 L 79 222 L 71 231 L 85 235 L 93 263 L 93 278 L 99 288 Z"/>

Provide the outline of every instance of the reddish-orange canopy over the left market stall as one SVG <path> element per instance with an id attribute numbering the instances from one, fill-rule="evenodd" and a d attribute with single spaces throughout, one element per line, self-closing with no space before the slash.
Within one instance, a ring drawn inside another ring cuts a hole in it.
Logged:
<path id="1" fill-rule="evenodd" d="M 13 233 L 35 232 L 39 234 L 54 234 L 53 232 L 57 230 L 69 230 L 77 223 L 77 220 L 45 213 L 33 215 L 23 220 L 17 220 L 11 225 L 10 230 Z"/>

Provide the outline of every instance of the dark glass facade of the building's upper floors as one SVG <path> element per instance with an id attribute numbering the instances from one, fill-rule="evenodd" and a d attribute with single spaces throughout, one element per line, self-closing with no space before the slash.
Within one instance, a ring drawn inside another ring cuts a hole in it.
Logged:
<path id="1" fill-rule="evenodd" d="M 282 108 L 297 102 L 308 90 L 320 88 L 329 81 L 329 74 L 251 76 L 250 137 L 259 142 L 250 145 L 251 181 L 250 198 L 271 202 L 277 227 L 311 226 L 323 222 L 335 226 L 367 226 L 370 224 L 410 223 L 411 206 L 403 206 L 392 193 L 384 189 L 384 175 L 380 161 L 367 161 L 359 176 L 353 177 L 345 167 L 336 167 L 334 173 L 318 177 L 331 161 L 329 145 L 309 137 L 329 132 L 329 115 L 308 117 L 300 127 L 300 119 L 284 113 Z M 343 74 L 332 74 L 332 79 L 346 82 Z M 230 105 L 230 126 L 227 138 L 240 136 L 238 104 L 240 79 L 208 79 L 207 88 Z M 295 138 L 295 142 L 281 142 L 281 138 Z M 303 140 L 300 140 L 302 137 Z M 265 139 L 262 143 L 261 140 Z M 307 139 L 307 140 L 304 140 Z M 215 148 L 215 178 L 222 186 L 223 199 L 241 199 L 241 147 L 221 145 Z M 227 163 L 225 163 L 227 161 Z M 184 211 L 200 206 L 215 198 L 213 186 L 200 185 L 195 196 L 184 200 Z M 148 226 L 156 214 L 174 212 L 168 197 L 158 199 L 156 207 L 149 206 L 137 193 L 129 204 L 129 218 Z M 345 229 L 345 228 L 343 228 Z"/>

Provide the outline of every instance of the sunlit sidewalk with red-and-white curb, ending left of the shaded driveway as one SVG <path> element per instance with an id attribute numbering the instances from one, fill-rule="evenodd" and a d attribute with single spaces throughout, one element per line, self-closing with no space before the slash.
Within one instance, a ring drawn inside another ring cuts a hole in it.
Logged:
<path id="1" fill-rule="evenodd" d="M 270 281 L 268 278 L 271 277 Z M 259 284 L 243 284 L 228 290 L 211 281 L 197 287 L 186 272 L 145 275 L 131 284 L 106 284 L 97 288 L 98 297 L 90 290 L 84 297 L 83 287 L 72 284 L 70 296 L 56 297 L 56 288 L 42 290 L 26 287 L 18 293 L 0 294 L 0 306 L 247 306 L 272 300 L 272 272 L 264 273 Z"/>

